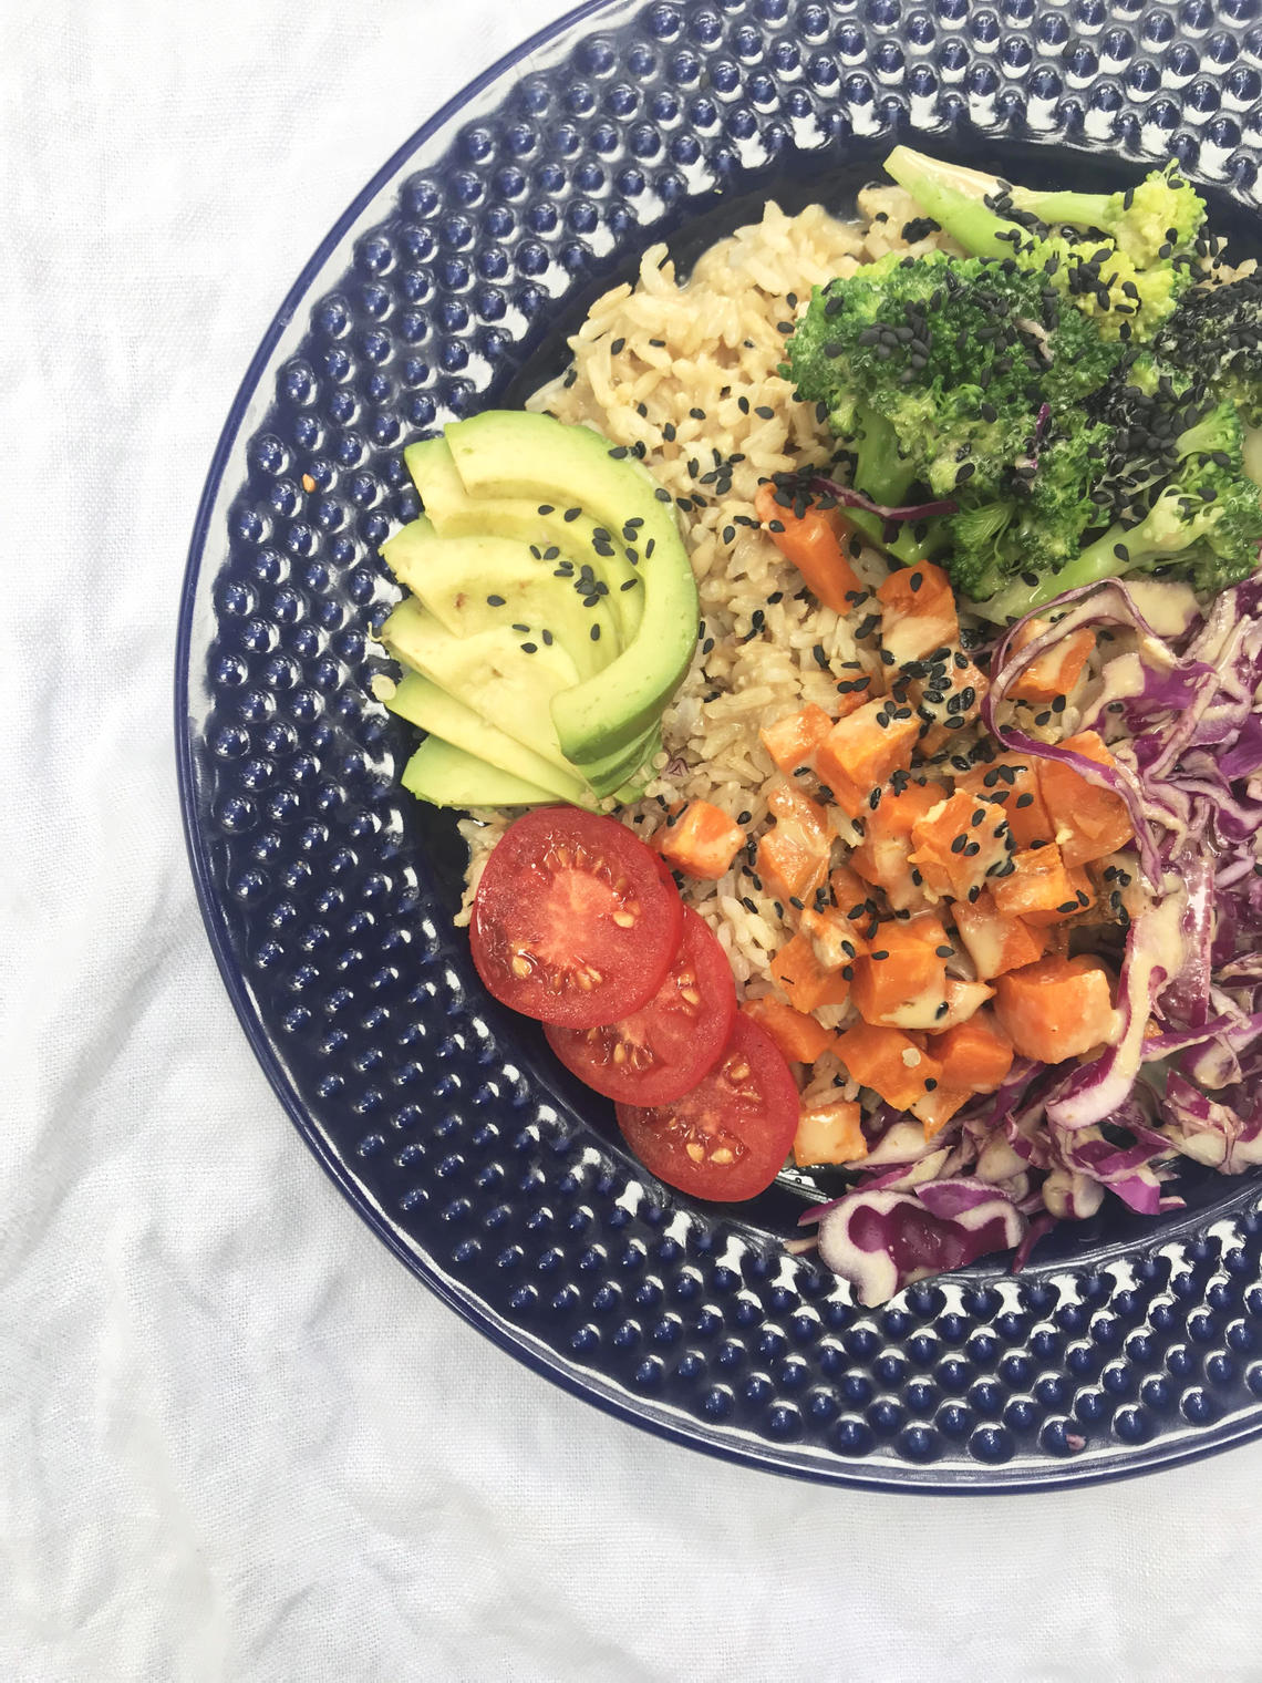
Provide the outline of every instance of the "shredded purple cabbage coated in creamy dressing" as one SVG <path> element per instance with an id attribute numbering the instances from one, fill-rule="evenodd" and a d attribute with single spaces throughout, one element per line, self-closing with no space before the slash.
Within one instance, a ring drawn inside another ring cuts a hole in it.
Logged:
<path id="1" fill-rule="evenodd" d="M 1195 614 L 1186 592 L 1146 586 L 1141 608 L 1119 581 L 1040 609 L 1055 614 L 1025 648 L 1020 626 L 1001 638 L 983 720 L 1005 747 L 1063 761 L 1126 801 L 1144 904 L 1119 1032 L 1087 1062 L 1018 1060 L 931 1143 L 882 1107 L 855 1188 L 803 1217 L 865 1304 L 998 1249 L 1018 1247 L 1023 1267 L 1106 1193 L 1144 1215 L 1176 1208 L 1180 1156 L 1225 1175 L 1262 1163 L 1262 574 Z M 1030 737 L 1005 705 L 1021 672 L 1082 626 L 1116 640 L 1082 715 L 1112 767 Z"/>

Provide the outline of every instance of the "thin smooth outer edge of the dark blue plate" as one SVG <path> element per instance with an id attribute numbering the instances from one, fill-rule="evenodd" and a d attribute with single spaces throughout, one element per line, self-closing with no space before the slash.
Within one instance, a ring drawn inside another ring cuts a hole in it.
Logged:
<path id="1" fill-rule="evenodd" d="M 550 1380 L 560 1390 L 577 1400 L 597 1407 L 601 1412 L 623 1420 L 639 1431 L 687 1449 L 700 1451 L 715 1461 L 754 1468 L 761 1473 L 793 1478 L 809 1484 L 826 1484 L 830 1488 L 851 1488 L 865 1491 L 882 1491 L 905 1496 L 1020 1496 L 1042 1489 L 1080 1489 L 1092 1484 L 1114 1483 L 1119 1479 L 1139 1478 L 1148 1473 L 1173 1471 L 1191 1461 L 1200 1461 L 1212 1454 L 1220 1454 L 1238 1444 L 1262 1437 L 1262 1404 L 1252 1417 L 1237 1417 L 1217 1426 L 1196 1429 L 1196 1434 L 1185 1442 L 1169 1437 L 1158 1437 L 1151 1444 L 1121 1449 L 1116 1446 L 1107 1457 L 1079 1464 L 1074 1459 L 1028 1461 L 1013 1468 L 959 1469 L 949 1478 L 934 1476 L 934 1466 L 914 1466 L 907 1463 L 877 1463 L 863 1459 L 848 1461 L 841 1454 L 818 1451 L 803 1459 L 803 1446 L 784 1446 L 798 1449 L 798 1461 L 786 1459 L 776 1444 L 756 1436 L 715 1439 L 705 1424 L 681 1410 L 668 1409 L 655 1399 L 623 1392 L 607 1375 L 581 1368 L 567 1362 L 564 1355 L 542 1345 L 523 1326 L 503 1321 L 469 1291 L 463 1293 L 456 1282 L 448 1279 L 436 1261 L 417 1244 L 407 1239 L 389 1218 L 385 1210 L 360 1185 L 348 1166 L 330 1148 L 321 1134 L 310 1107 L 303 1104 L 289 1082 L 271 1040 L 268 1038 L 257 1011 L 252 1008 L 249 988 L 242 969 L 232 954 L 227 931 L 222 921 L 220 895 L 217 892 L 207 845 L 200 820 L 199 776 L 194 752 L 190 687 L 192 687 L 192 648 L 195 628 L 197 592 L 202 582 L 202 565 L 210 535 L 212 517 L 224 490 L 224 476 L 232 449 L 241 434 L 251 401 L 259 390 L 261 379 L 268 370 L 269 358 L 281 342 L 286 328 L 294 320 L 303 300 L 308 298 L 313 283 L 323 271 L 338 244 L 355 227 L 360 215 L 374 199 L 399 177 L 407 160 L 431 140 L 444 125 L 459 116 L 478 94 L 496 82 L 515 66 L 528 61 L 538 49 L 550 45 L 557 37 L 567 34 L 589 17 L 599 17 L 609 10 L 626 8 L 626 0 L 581 0 L 550 24 L 537 29 L 508 52 L 501 54 L 490 66 L 464 82 L 451 94 L 419 128 L 416 128 L 374 172 L 365 185 L 350 199 L 342 214 L 333 220 L 315 251 L 303 264 L 293 284 L 284 293 L 274 310 L 259 343 L 246 365 L 227 417 L 219 431 L 210 456 L 210 465 L 202 483 L 202 491 L 194 515 L 188 539 L 185 565 L 178 589 L 178 621 L 173 661 L 173 727 L 175 727 L 175 783 L 180 803 L 180 826 L 197 907 L 202 917 L 207 941 L 210 944 L 215 966 L 227 991 L 237 1023 L 246 1042 L 257 1059 L 284 1112 L 294 1124 L 300 1138 L 320 1163 L 325 1175 L 347 1198 L 355 1213 L 372 1229 L 387 1249 L 432 1291 L 441 1303 L 461 1316 L 469 1326 L 486 1336 L 505 1355 L 523 1363 L 533 1373 Z M 1094 151 L 1092 146 L 1070 146 L 1075 151 Z"/>

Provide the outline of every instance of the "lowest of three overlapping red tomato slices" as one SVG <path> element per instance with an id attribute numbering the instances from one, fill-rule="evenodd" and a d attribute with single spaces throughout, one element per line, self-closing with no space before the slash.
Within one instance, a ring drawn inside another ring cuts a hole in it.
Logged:
<path id="1" fill-rule="evenodd" d="M 671 1104 L 619 1104 L 618 1126 L 658 1180 L 735 1203 L 779 1175 L 798 1131 L 798 1086 L 771 1035 L 737 1013 L 718 1062 Z"/>

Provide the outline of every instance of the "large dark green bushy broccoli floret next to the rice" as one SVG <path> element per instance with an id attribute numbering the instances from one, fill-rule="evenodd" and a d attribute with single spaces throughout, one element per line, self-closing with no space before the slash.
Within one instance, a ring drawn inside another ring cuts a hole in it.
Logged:
<path id="1" fill-rule="evenodd" d="M 887 507 L 957 505 L 897 528 L 850 518 L 900 560 L 949 549 L 957 587 L 984 581 L 989 594 L 1031 554 L 1060 565 L 1075 550 L 1102 451 L 1082 406 L 1121 358 L 1011 257 L 931 252 L 816 289 L 787 372 L 826 411 L 856 490 Z"/>

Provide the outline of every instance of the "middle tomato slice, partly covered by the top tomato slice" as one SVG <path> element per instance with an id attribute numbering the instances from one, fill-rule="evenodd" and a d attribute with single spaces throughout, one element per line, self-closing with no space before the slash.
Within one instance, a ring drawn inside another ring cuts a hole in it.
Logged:
<path id="1" fill-rule="evenodd" d="M 692 907 L 666 980 L 638 1011 L 597 1028 L 545 1025 L 549 1045 L 579 1080 L 624 1104 L 666 1104 L 718 1062 L 735 1022 L 727 953 Z"/>

